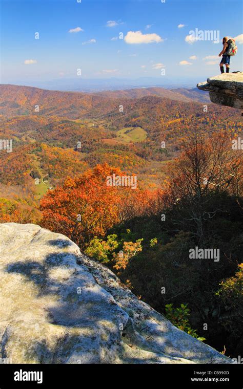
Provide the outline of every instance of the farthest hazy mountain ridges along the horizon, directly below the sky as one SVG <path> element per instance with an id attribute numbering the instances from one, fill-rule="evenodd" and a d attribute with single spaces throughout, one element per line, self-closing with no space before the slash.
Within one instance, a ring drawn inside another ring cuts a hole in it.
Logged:
<path id="1" fill-rule="evenodd" d="M 97 93 L 49 91 L 19 85 L 0 85 L 0 109 L 8 117 L 16 115 L 58 115 L 77 119 L 90 110 L 101 109 L 105 113 L 122 104 L 121 99 L 140 99 L 157 96 L 181 102 L 210 102 L 207 92 L 198 89 L 137 88 L 124 91 Z M 117 100 L 117 101 L 114 101 Z M 36 107 L 38 106 L 38 107 Z M 39 110 L 39 111 L 38 111 Z"/>

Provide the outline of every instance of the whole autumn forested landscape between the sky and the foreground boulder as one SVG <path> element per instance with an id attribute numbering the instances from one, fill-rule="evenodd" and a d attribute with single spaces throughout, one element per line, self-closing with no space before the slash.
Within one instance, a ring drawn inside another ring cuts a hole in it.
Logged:
<path id="1" fill-rule="evenodd" d="M 69 236 L 177 327 L 240 355 L 240 113 L 194 90 L 14 85 L 2 85 L 0 109 L 0 139 L 13 140 L 0 150 L 0 221 Z M 112 174 L 136 176 L 137 188 L 107 186 Z M 196 246 L 220 260 L 192 260 Z"/>

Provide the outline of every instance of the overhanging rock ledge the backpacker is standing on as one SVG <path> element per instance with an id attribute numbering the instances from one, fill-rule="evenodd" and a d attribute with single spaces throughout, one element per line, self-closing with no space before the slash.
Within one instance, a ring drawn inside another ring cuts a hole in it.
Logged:
<path id="1" fill-rule="evenodd" d="M 197 84 L 197 88 L 209 91 L 215 104 L 243 109 L 243 73 L 223 73 Z"/>

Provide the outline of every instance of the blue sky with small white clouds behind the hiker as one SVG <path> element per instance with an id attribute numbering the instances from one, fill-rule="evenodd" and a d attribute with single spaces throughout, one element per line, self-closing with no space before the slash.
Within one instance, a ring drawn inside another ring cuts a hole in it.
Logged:
<path id="1" fill-rule="evenodd" d="M 77 1 L 2 0 L 1 82 L 38 86 L 75 77 L 202 81 L 219 73 L 217 55 L 227 35 L 237 37 L 231 71 L 242 68 L 241 1 Z M 186 41 L 195 29 L 219 31 L 219 43 Z"/>

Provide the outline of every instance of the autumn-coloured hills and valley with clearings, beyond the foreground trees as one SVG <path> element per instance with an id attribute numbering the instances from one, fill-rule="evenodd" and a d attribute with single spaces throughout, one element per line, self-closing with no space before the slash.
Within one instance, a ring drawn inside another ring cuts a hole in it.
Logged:
<path id="1" fill-rule="evenodd" d="M 225 129 L 233 136 L 240 118 L 239 111 L 212 104 L 197 89 L 80 93 L 2 84 L 0 139 L 13 140 L 13 153 L 0 153 L 0 185 L 6 191 L 16 182 L 32 183 L 41 197 L 47 185 L 34 185 L 33 172 L 55 187 L 68 175 L 107 162 L 156 187 L 190 134 Z"/>

